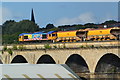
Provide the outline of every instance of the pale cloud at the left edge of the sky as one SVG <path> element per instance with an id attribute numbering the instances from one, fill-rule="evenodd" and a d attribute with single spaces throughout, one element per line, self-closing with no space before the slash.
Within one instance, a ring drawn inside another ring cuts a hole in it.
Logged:
<path id="1" fill-rule="evenodd" d="M 0 6 L 0 25 L 3 24 L 6 20 L 12 19 L 12 13 L 9 9 Z"/>

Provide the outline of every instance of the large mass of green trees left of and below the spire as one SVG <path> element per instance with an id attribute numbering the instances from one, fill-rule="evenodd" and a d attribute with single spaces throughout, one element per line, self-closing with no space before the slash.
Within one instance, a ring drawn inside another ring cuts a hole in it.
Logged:
<path id="1" fill-rule="evenodd" d="M 39 26 L 32 21 L 22 20 L 15 22 L 14 20 L 6 21 L 2 25 L 3 44 L 18 44 L 18 36 L 21 33 L 31 33 L 39 30 Z"/>

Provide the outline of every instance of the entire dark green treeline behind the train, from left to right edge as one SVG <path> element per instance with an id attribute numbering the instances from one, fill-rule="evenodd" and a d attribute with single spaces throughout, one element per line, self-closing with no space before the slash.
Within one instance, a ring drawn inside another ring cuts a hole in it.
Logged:
<path id="1" fill-rule="evenodd" d="M 34 22 L 30 20 L 22 20 L 16 22 L 14 20 L 9 20 L 3 23 L 2 26 L 2 44 L 17 44 L 18 36 L 21 33 L 33 33 L 33 32 L 48 32 L 48 31 L 69 31 L 78 30 L 85 28 L 102 28 L 104 25 L 108 27 L 116 26 L 119 22 L 110 20 L 101 24 L 87 23 L 87 24 L 74 24 L 74 25 L 62 25 L 54 26 L 53 24 L 47 24 L 45 28 L 41 28 Z"/>

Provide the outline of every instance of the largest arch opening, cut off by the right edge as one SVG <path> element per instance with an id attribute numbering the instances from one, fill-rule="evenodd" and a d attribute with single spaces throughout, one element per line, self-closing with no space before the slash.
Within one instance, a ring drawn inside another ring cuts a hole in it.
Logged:
<path id="1" fill-rule="evenodd" d="M 117 73 L 120 72 L 120 58 L 112 53 L 103 55 L 98 61 L 96 73 Z"/>

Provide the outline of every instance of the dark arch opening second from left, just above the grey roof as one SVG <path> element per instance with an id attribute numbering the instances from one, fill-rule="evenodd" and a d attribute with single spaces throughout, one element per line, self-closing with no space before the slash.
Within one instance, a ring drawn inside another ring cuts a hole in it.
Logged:
<path id="1" fill-rule="evenodd" d="M 56 62 L 53 60 L 51 56 L 42 55 L 37 61 L 37 64 L 56 64 Z"/>

